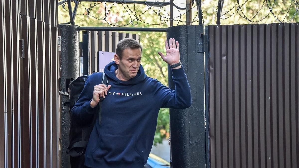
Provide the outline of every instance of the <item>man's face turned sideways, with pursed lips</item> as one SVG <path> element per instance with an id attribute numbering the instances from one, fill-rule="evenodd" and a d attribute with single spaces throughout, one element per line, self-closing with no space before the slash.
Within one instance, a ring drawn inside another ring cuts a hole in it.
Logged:
<path id="1" fill-rule="evenodd" d="M 122 59 L 117 55 L 114 56 L 115 63 L 118 64 L 118 70 L 123 78 L 129 80 L 137 75 L 141 62 L 140 48 L 126 48 L 123 50 Z"/>

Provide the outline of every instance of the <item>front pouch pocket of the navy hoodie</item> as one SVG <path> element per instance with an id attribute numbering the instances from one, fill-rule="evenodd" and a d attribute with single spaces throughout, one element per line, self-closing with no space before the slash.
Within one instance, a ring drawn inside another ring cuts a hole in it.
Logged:
<path id="1" fill-rule="evenodd" d="M 94 159 L 104 159 L 108 162 L 144 161 L 135 150 L 134 135 L 99 135 L 98 147 L 92 153 Z"/>

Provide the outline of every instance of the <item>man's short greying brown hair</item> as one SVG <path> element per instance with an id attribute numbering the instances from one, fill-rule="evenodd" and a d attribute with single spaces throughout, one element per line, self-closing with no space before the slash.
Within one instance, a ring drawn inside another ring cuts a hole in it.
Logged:
<path id="1" fill-rule="evenodd" d="M 122 59 L 123 50 L 125 50 L 126 48 L 131 48 L 131 49 L 140 48 L 141 52 L 142 52 L 142 47 L 139 44 L 139 42 L 137 42 L 134 39 L 129 39 L 129 38 L 123 39 L 123 40 L 120 40 L 116 46 L 115 54 L 119 56 L 119 59 Z"/>

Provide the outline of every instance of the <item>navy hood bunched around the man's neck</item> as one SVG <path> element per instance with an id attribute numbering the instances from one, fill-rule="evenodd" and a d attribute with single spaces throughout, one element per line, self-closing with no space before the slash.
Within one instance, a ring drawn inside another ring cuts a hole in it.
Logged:
<path id="1" fill-rule="evenodd" d="M 143 80 L 145 80 L 145 78 L 147 77 L 147 75 L 144 73 L 144 69 L 142 67 L 142 65 L 140 64 L 139 66 L 139 70 L 137 72 L 137 75 L 127 81 L 121 81 L 119 80 L 116 75 L 115 75 L 115 70 L 118 69 L 117 64 L 115 63 L 115 61 L 110 62 L 109 64 L 106 65 L 105 69 L 104 69 L 104 73 L 111 79 L 114 80 L 116 83 L 118 84 L 122 84 L 122 85 L 131 85 L 131 84 L 137 84 L 142 82 Z"/>

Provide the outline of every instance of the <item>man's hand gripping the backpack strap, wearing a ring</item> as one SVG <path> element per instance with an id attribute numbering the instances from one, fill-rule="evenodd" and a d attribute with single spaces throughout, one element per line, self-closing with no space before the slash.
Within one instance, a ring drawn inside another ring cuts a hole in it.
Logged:
<path id="1" fill-rule="evenodd" d="M 92 108 L 94 108 L 95 106 L 97 106 L 97 104 L 100 101 L 100 97 L 104 97 L 105 98 L 105 95 L 107 95 L 107 91 L 109 90 L 110 87 L 111 87 L 111 85 L 108 85 L 108 87 L 107 87 L 103 83 L 94 86 L 94 92 L 92 94 L 92 100 L 90 102 L 90 106 Z"/>

